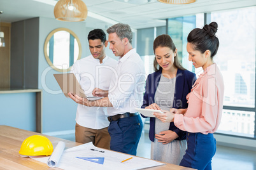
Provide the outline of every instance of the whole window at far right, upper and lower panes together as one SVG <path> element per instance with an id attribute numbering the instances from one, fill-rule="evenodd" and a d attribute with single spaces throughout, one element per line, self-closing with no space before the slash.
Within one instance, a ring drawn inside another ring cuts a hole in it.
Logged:
<path id="1" fill-rule="evenodd" d="M 223 110 L 217 132 L 253 137 L 256 7 L 213 12 L 211 21 L 218 23 L 220 47 L 214 60 L 224 77 L 224 108 L 230 109 Z"/>

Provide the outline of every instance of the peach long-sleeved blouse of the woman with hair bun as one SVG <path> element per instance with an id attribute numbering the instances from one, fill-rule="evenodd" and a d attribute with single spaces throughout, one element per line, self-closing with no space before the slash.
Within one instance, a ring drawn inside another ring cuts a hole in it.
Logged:
<path id="1" fill-rule="evenodd" d="M 186 114 L 174 115 L 174 125 L 176 127 L 183 131 L 203 134 L 211 133 L 215 129 L 219 104 L 215 83 L 215 77 L 208 77 L 204 82 L 201 82 L 201 86 L 191 92 Z M 200 93 L 200 91 L 203 91 L 203 93 Z M 201 96 L 197 96 L 199 94 Z"/>

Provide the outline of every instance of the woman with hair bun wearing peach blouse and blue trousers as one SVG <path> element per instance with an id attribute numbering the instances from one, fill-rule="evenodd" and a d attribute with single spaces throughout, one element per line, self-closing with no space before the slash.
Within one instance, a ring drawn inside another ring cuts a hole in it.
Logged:
<path id="1" fill-rule="evenodd" d="M 171 108 L 169 112 L 154 115 L 162 122 L 187 131 L 187 150 L 180 166 L 195 169 L 211 169 L 211 159 L 216 152 L 217 131 L 222 116 L 224 81 L 213 56 L 218 51 L 219 41 L 215 36 L 218 24 L 211 22 L 203 29 L 192 30 L 187 37 L 188 60 L 194 67 L 203 67 L 191 92 L 187 95 L 188 108 Z"/>

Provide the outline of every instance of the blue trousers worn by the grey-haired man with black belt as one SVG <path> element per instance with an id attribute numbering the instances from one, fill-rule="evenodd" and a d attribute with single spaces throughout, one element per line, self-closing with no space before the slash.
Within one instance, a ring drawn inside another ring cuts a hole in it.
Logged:
<path id="1" fill-rule="evenodd" d="M 110 150 L 136 155 L 142 128 L 140 115 L 111 121 L 108 127 Z"/>

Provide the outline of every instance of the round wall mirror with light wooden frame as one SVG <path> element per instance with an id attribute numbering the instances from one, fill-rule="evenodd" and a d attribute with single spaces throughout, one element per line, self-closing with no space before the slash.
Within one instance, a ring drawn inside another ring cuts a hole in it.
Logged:
<path id="1" fill-rule="evenodd" d="M 44 53 L 52 69 L 66 72 L 82 55 L 81 43 L 76 34 L 69 29 L 55 29 L 45 40 Z"/>

